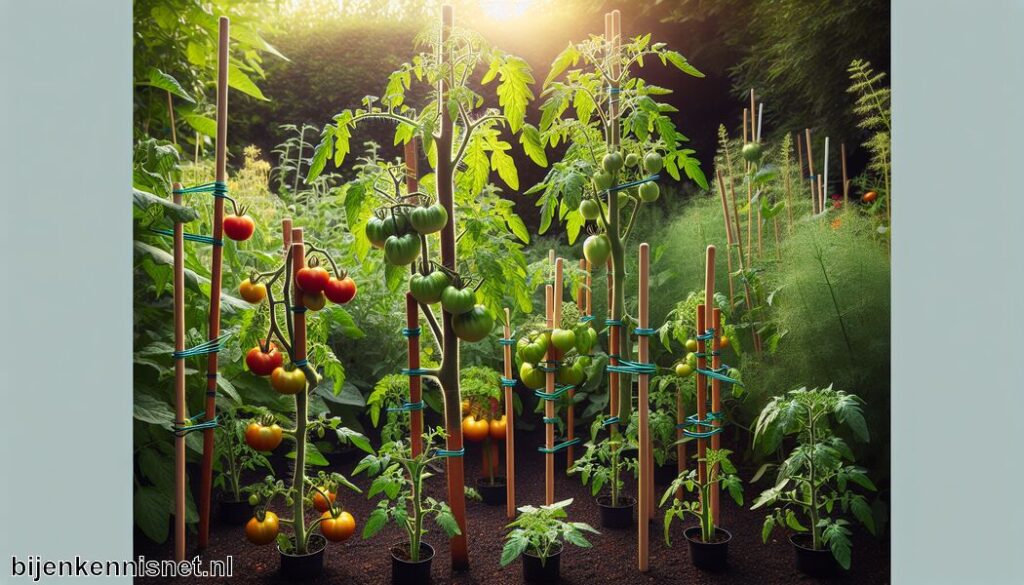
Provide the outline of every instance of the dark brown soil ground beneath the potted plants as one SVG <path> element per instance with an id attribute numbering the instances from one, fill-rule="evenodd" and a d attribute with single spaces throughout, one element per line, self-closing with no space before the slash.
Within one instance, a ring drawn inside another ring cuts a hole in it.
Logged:
<path id="1" fill-rule="evenodd" d="M 540 430 L 517 434 L 516 436 L 516 503 L 544 503 L 544 455 L 537 452 L 537 447 L 543 441 Z M 466 458 L 466 476 L 468 482 L 479 472 L 479 450 L 471 445 Z M 346 473 L 354 466 L 351 457 L 348 461 L 339 461 L 338 468 Z M 564 456 L 558 456 L 557 469 L 564 470 Z M 745 473 L 750 476 L 750 473 Z M 369 482 L 362 475 L 354 482 L 366 489 Z M 442 474 L 428 479 L 431 484 L 428 491 L 443 498 L 445 480 Z M 745 498 L 748 504 L 764 486 L 748 487 Z M 664 492 L 658 484 L 657 497 Z M 344 505 L 356 518 L 358 527 L 356 536 L 341 544 L 331 544 L 325 557 L 324 574 L 313 583 L 345 583 L 352 585 L 370 585 L 390 583 L 391 557 L 389 548 L 402 540 L 400 531 L 389 525 L 377 537 L 364 541 L 358 538 L 362 530 L 361 523 L 370 513 L 375 502 L 352 492 L 343 493 L 340 498 Z M 600 529 L 598 508 L 590 496 L 589 489 L 582 486 L 574 476 L 566 476 L 564 472 L 556 474 L 555 498 L 561 500 L 573 498 L 570 507 L 570 517 L 573 520 L 586 521 Z M 761 525 L 764 520 L 760 510 L 735 506 L 732 500 L 723 495 L 721 526 L 729 530 L 732 541 L 729 543 L 729 569 L 721 574 L 711 574 L 699 571 L 690 563 L 686 540 L 682 536 L 683 525 L 676 524 L 673 529 L 673 546 L 666 546 L 662 537 L 662 520 L 656 518 L 650 525 L 650 570 L 645 574 L 637 573 L 636 529 L 626 531 L 605 530 L 601 536 L 591 540 L 593 548 L 581 549 L 567 547 L 562 553 L 562 583 L 571 585 L 597 585 L 605 583 L 685 583 L 685 584 L 744 584 L 744 585 L 780 585 L 780 584 L 812 584 L 812 583 L 857 583 L 885 585 L 890 582 L 890 544 L 888 538 L 876 540 L 857 531 L 853 547 L 853 569 L 842 578 L 833 580 L 816 580 L 798 573 L 794 567 L 794 553 L 788 539 L 776 530 L 768 544 L 761 543 Z M 216 510 L 214 510 L 216 512 Z M 431 527 L 426 541 L 437 551 L 433 561 L 433 582 L 469 584 L 518 584 L 522 582 L 521 567 L 515 561 L 507 568 L 499 565 L 502 550 L 502 535 L 507 524 L 504 506 L 487 506 L 478 502 L 467 502 L 470 569 L 453 575 L 449 559 L 447 540 L 436 527 Z M 216 515 L 211 532 L 211 546 L 204 554 L 205 558 L 233 557 L 234 577 L 231 579 L 208 579 L 206 582 L 224 583 L 278 583 L 281 581 L 278 573 L 280 555 L 273 545 L 253 546 L 245 539 L 242 527 L 225 527 L 217 523 Z M 685 527 L 693 526 L 688 521 Z M 195 535 L 189 537 L 189 544 L 195 543 Z M 135 553 L 143 554 L 150 559 L 166 559 L 173 556 L 173 543 L 155 545 L 144 537 L 136 536 Z M 189 553 L 191 554 L 191 553 Z M 202 582 L 196 578 L 141 579 L 144 582 L 195 583 Z"/>

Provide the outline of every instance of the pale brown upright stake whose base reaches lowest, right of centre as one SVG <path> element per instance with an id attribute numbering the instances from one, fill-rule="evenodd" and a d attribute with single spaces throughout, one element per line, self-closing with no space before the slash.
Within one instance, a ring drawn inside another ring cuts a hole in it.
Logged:
<path id="1" fill-rule="evenodd" d="M 637 320 L 639 322 L 640 329 L 645 329 L 648 326 L 648 293 L 649 293 L 649 274 L 650 274 L 650 246 L 647 243 L 640 244 L 640 267 L 639 267 L 639 281 L 640 290 L 638 291 L 638 315 Z M 638 363 L 646 364 L 649 360 L 648 356 L 648 345 L 650 339 L 646 335 L 637 336 L 638 345 Z M 651 500 L 652 496 L 652 469 L 651 469 L 651 444 L 650 444 L 650 402 L 647 394 L 647 386 L 649 383 L 650 376 L 648 374 L 640 374 L 639 392 L 638 392 L 638 406 L 640 411 L 640 429 L 639 429 L 639 442 L 640 442 L 640 486 L 637 490 L 639 495 L 639 511 L 638 517 L 638 536 L 639 541 L 639 562 L 638 569 L 641 573 L 647 571 L 647 565 L 649 561 L 649 553 L 647 550 L 647 541 L 649 537 L 650 524 L 647 521 L 651 515 L 653 502 Z M 612 502 L 614 503 L 614 502 Z"/>

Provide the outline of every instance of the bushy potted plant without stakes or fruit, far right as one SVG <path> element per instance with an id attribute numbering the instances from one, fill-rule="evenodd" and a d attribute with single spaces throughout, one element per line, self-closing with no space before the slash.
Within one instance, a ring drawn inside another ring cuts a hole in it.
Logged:
<path id="1" fill-rule="evenodd" d="M 857 486 L 873 492 L 874 484 L 863 468 L 853 465 L 853 452 L 836 434 L 844 428 L 868 441 L 862 403 L 831 385 L 812 390 L 802 387 L 772 399 L 754 428 L 754 445 L 763 452 L 777 450 L 784 437 L 796 438 L 793 451 L 778 465 L 775 485 L 758 496 L 752 509 L 773 507 L 761 531 L 765 542 L 776 526 L 796 533 L 790 542 L 797 568 L 807 575 L 827 576 L 840 567 L 850 568 L 850 523 L 842 515 L 851 513 L 874 534 L 871 506 L 853 491 Z M 758 475 L 771 467 L 762 467 Z"/>

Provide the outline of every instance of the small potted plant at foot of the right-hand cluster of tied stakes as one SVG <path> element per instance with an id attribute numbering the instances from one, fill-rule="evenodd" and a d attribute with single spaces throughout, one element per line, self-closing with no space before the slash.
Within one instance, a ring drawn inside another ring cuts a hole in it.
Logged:
<path id="1" fill-rule="evenodd" d="M 743 505 L 743 491 L 736 475 L 736 467 L 729 461 L 731 454 L 728 449 L 708 449 L 702 458 L 697 457 L 697 461 L 703 463 L 708 470 L 703 480 L 697 469 L 690 469 L 680 473 L 662 496 L 662 506 L 672 500 L 672 505 L 665 511 L 665 542 L 669 546 L 672 546 L 669 531 L 674 519 L 684 519 L 685 514 L 697 518 L 698 526 L 686 529 L 683 536 L 689 543 L 690 560 L 699 569 L 721 571 L 728 563 L 732 534 L 715 526 L 711 506 L 707 502 L 711 500 L 712 490 L 724 488 L 736 504 Z M 685 488 L 687 492 L 696 492 L 696 500 L 676 498 L 681 488 Z"/>

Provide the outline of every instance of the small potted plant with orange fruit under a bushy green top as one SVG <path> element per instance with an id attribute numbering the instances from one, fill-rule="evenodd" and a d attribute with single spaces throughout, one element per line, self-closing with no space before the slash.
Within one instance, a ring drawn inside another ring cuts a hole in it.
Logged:
<path id="1" fill-rule="evenodd" d="M 482 443 L 483 466 L 476 479 L 476 491 L 484 504 L 505 504 L 507 491 L 499 443 L 505 441 L 505 415 L 501 412 L 501 375 L 481 366 L 464 368 L 462 378 L 462 431 L 466 441 Z"/>

